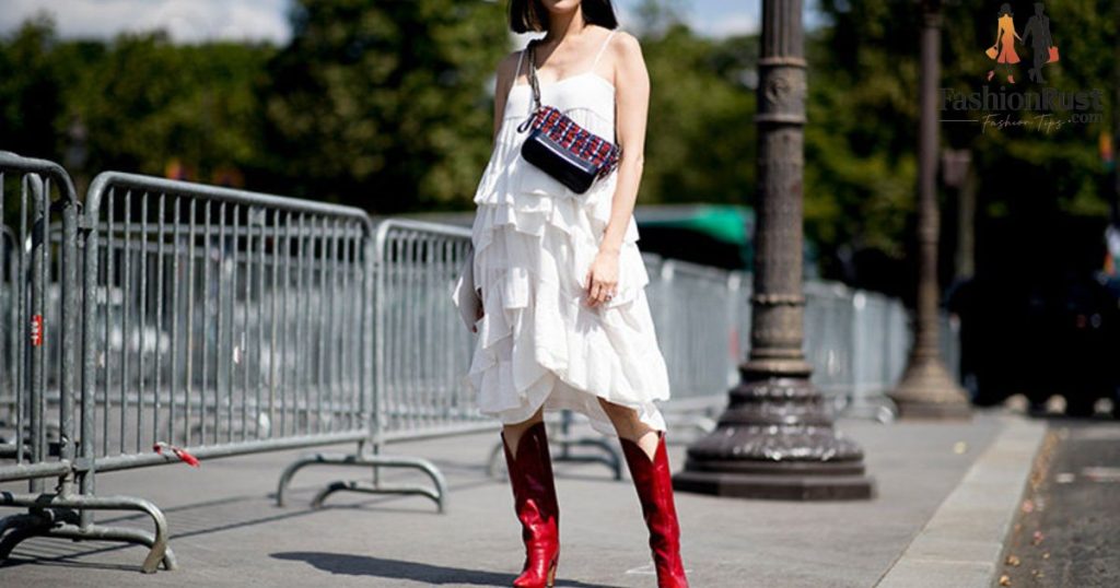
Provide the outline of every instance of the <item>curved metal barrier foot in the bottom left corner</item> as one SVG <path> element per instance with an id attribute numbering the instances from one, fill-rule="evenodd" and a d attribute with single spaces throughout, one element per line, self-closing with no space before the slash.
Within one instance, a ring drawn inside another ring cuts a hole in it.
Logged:
<path id="1" fill-rule="evenodd" d="M 0 560 L 6 560 L 17 544 L 31 536 L 58 536 L 81 540 L 124 541 L 142 544 L 149 548 L 141 570 L 153 573 L 164 563 L 165 570 L 175 570 L 178 566 L 175 553 L 168 547 L 167 519 L 155 504 L 143 498 L 131 496 L 58 496 L 53 494 L 11 494 L 0 493 L 0 506 L 27 506 L 41 510 L 40 513 L 9 516 L 0 524 L 0 532 L 6 528 L 12 530 L 0 541 Z M 139 511 L 151 517 L 155 532 L 123 526 L 103 526 L 75 524 L 75 513 L 63 513 L 55 508 L 87 508 L 94 511 Z M 50 513 L 50 514 L 47 514 Z M 37 521 L 36 521 L 37 520 Z"/>

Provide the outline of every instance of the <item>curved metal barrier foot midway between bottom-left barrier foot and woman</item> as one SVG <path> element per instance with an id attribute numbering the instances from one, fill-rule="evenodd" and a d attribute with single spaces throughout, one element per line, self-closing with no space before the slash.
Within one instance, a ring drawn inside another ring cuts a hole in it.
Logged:
<path id="1" fill-rule="evenodd" d="M 412 457 L 391 457 L 391 456 L 380 456 L 380 455 L 357 455 L 357 454 L 314 454 L 310 456 L 305 456 L 287 468 L 280 475 L 280 483 L 277 486 L 277 505 L 284 506 L 286 504 L 286 492 L 288 485 L 291 484 L 291 479 L 296 476 L 296 473 L 308 466 L 314 465 L 326 465 L 326 466 L 347 466 L 347 467 L 372 467 L 374 470 L 373 482 L 334 482 L 327 485 L 326 488 L 319 491 L 315 498 L 311 501 L 311 506 L 314 508 L 319 508 L 323 506 L 323 502 L 327 496 L 336 492 L 358 492 L 364 494 L 402 494 L 402 495 L 420 495 L 427 496 L 436 502 L 437 507 L 440 513 L 446 512 L 445 500 L 447 496 L 447 482 L 444 479 L 444 474 L 440 473 L 439 468 L 435 464 L 427 459 L 412 458 Z M 393 468 L 413 468 L 419 469 L 431 478 L 435 487 L 427 486 L 416 486 L 416 485 L 391 485 L 383 484 L 380 480 L 379 469 L 382 467 L 393 467 Z"/>

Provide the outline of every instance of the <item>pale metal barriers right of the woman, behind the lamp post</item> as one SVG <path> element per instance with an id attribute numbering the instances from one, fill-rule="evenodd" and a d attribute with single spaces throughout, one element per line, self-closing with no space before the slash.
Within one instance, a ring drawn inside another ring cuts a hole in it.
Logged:
<path id="1" fill-rule="evenodd" d="M 645 259 L 650 304 L 672 379 L 663 412 L 673 426 L 712 430 L 749 354 L 752 276 L 652 254 Z M 913 339 L 906 308 L 839 282 L 806 280 L 804 292 L 803 345 L 814 385 L 838 412 L 893 420 L 897 407 L 887 392 L 902 377 Z M 946 312 L 939 321 L 942 357 L 956 373 L 959 327 Z"/>

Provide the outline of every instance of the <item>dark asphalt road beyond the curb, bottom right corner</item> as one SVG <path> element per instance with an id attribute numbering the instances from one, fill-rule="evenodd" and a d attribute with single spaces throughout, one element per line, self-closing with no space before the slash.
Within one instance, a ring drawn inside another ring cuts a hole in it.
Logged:
<path id="1" fill-rule="evenodd" d="M 1120 422 L 1052 419 L 999 585 L 1120 586 Z"/>

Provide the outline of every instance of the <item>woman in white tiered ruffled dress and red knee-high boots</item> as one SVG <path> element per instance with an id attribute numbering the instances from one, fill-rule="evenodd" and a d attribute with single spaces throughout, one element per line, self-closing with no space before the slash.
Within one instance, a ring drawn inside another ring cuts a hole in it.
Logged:
<path id="1" fill-rule="evenodd" d="M 475 194 L 473 256 L 455 301 L 478 333 L 466 381 L 480 411 L 503 423 L 525 544 L 514 586 L 554 581 L 559 508 L 543 412 L 569 409 L 619 437 L 657 584 L 687 587 L 665 421 L 654 404 L 669 398 L 669 375 L 633 218 L 650 93 L 641 47 L 617 30 L 610 0 L 511 0 L 508 16 L 516 32 L 547 34 L 534 39 L 535 56 L 515 52 L 498 65 L 494 152 Z M 531 65 L 542 104 L 622 149 L 617 168 L 585 193 L 521 156 Z"/>

